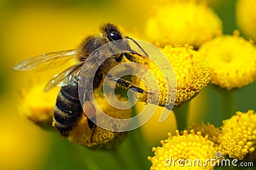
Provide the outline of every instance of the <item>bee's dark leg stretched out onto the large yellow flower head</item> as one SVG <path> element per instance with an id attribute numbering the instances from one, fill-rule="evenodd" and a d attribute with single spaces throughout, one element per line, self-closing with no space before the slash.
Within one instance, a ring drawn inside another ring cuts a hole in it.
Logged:
<path id="1" fill-rule="evenodd" d="M 110 81 L 115 81 L 118 85 L 124 87 L 125 89 L 131 89 L 131 90 L 133 90 L 135 92 L 139 92 L 139 93 L 152 94 L 152 92 L 147 92 L 146 90 L 143 90 L 136 85 L 132 85 L 132 83 L 130 81 L 124 80 L 122 78 L 113 77 L 110 74 L 107 74 L 107 76 Z"/>

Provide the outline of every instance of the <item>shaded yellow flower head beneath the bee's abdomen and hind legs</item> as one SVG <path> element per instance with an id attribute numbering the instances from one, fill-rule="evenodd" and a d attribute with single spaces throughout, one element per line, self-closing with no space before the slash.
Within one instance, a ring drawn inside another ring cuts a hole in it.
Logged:
<path id="1" fill-rule="evenodd" d="M 124 97 L 116 96 L 121 102 L 126 101 Z M 99 108 L 106 113 L 109 117 L 113 118 L 130 118 L 131 109 L 129 110 L 118 110 L 113 108 L 105 98 L 97 96 L 95 97 L 97 104 L 96 111 L 99 111 Z M 107 123 L 107 122 L 106 122 Z M 122 125 L 120 125 L 122 126 Z M 79 145 L 87 146 L 89 148 L 97 149 L 111 149 L 116 146 L 116 144 L 121 143 L 125 138 L 125 132 L 114 132 L 102 129 L 99 126 L 96 126 L 95 129 L 90 129 L 88 126 L 87 118 L 82 117 L 79 120 L 78 124 L 68 136 L 68 140 L 78 143 Z"/>

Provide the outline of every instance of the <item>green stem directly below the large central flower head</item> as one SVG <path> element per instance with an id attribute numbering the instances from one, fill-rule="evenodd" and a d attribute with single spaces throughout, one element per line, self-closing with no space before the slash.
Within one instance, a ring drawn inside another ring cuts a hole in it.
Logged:
<path id="1" fill-rule="evenodd" d="M 187 129 L 188 109 L 189 102 L 186 102 L 183 106 L 180 106 L 179 108 L 173 109 L 177 122 L 177 129 L 179 129 L 179 131 Z"/>

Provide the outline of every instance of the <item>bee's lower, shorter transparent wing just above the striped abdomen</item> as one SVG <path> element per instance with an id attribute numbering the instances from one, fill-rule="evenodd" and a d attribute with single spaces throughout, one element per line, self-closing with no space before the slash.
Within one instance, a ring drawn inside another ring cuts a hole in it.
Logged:
<path id="1" fill-rule="evenodd" d="M 68 67 L 68 69 L 61 72 L 60 74 L 56 74 L 54 78 L 52 78 L 52 80 L 47 83 L 44 91 L 47 92 L 55 86 L 62 87 L 68 84 L 76 83 L 78 81 L 79 73 L 81 71 L 83 63 L 84 62 L 79 62 L 74 66 Z"/>

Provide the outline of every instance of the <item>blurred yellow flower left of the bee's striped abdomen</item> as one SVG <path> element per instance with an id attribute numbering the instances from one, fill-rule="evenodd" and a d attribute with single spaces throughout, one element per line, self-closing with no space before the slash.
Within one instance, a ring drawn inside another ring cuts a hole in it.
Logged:
<path id="1" fill-rule="evenodd" d="M 33 80 L 30 89 L 20 91 L 18 110 L 22 117 L 26 117 L 40 127 L 52 128 L 53 108 L 60 88 L 44 92 L 45 82 Z"/>

